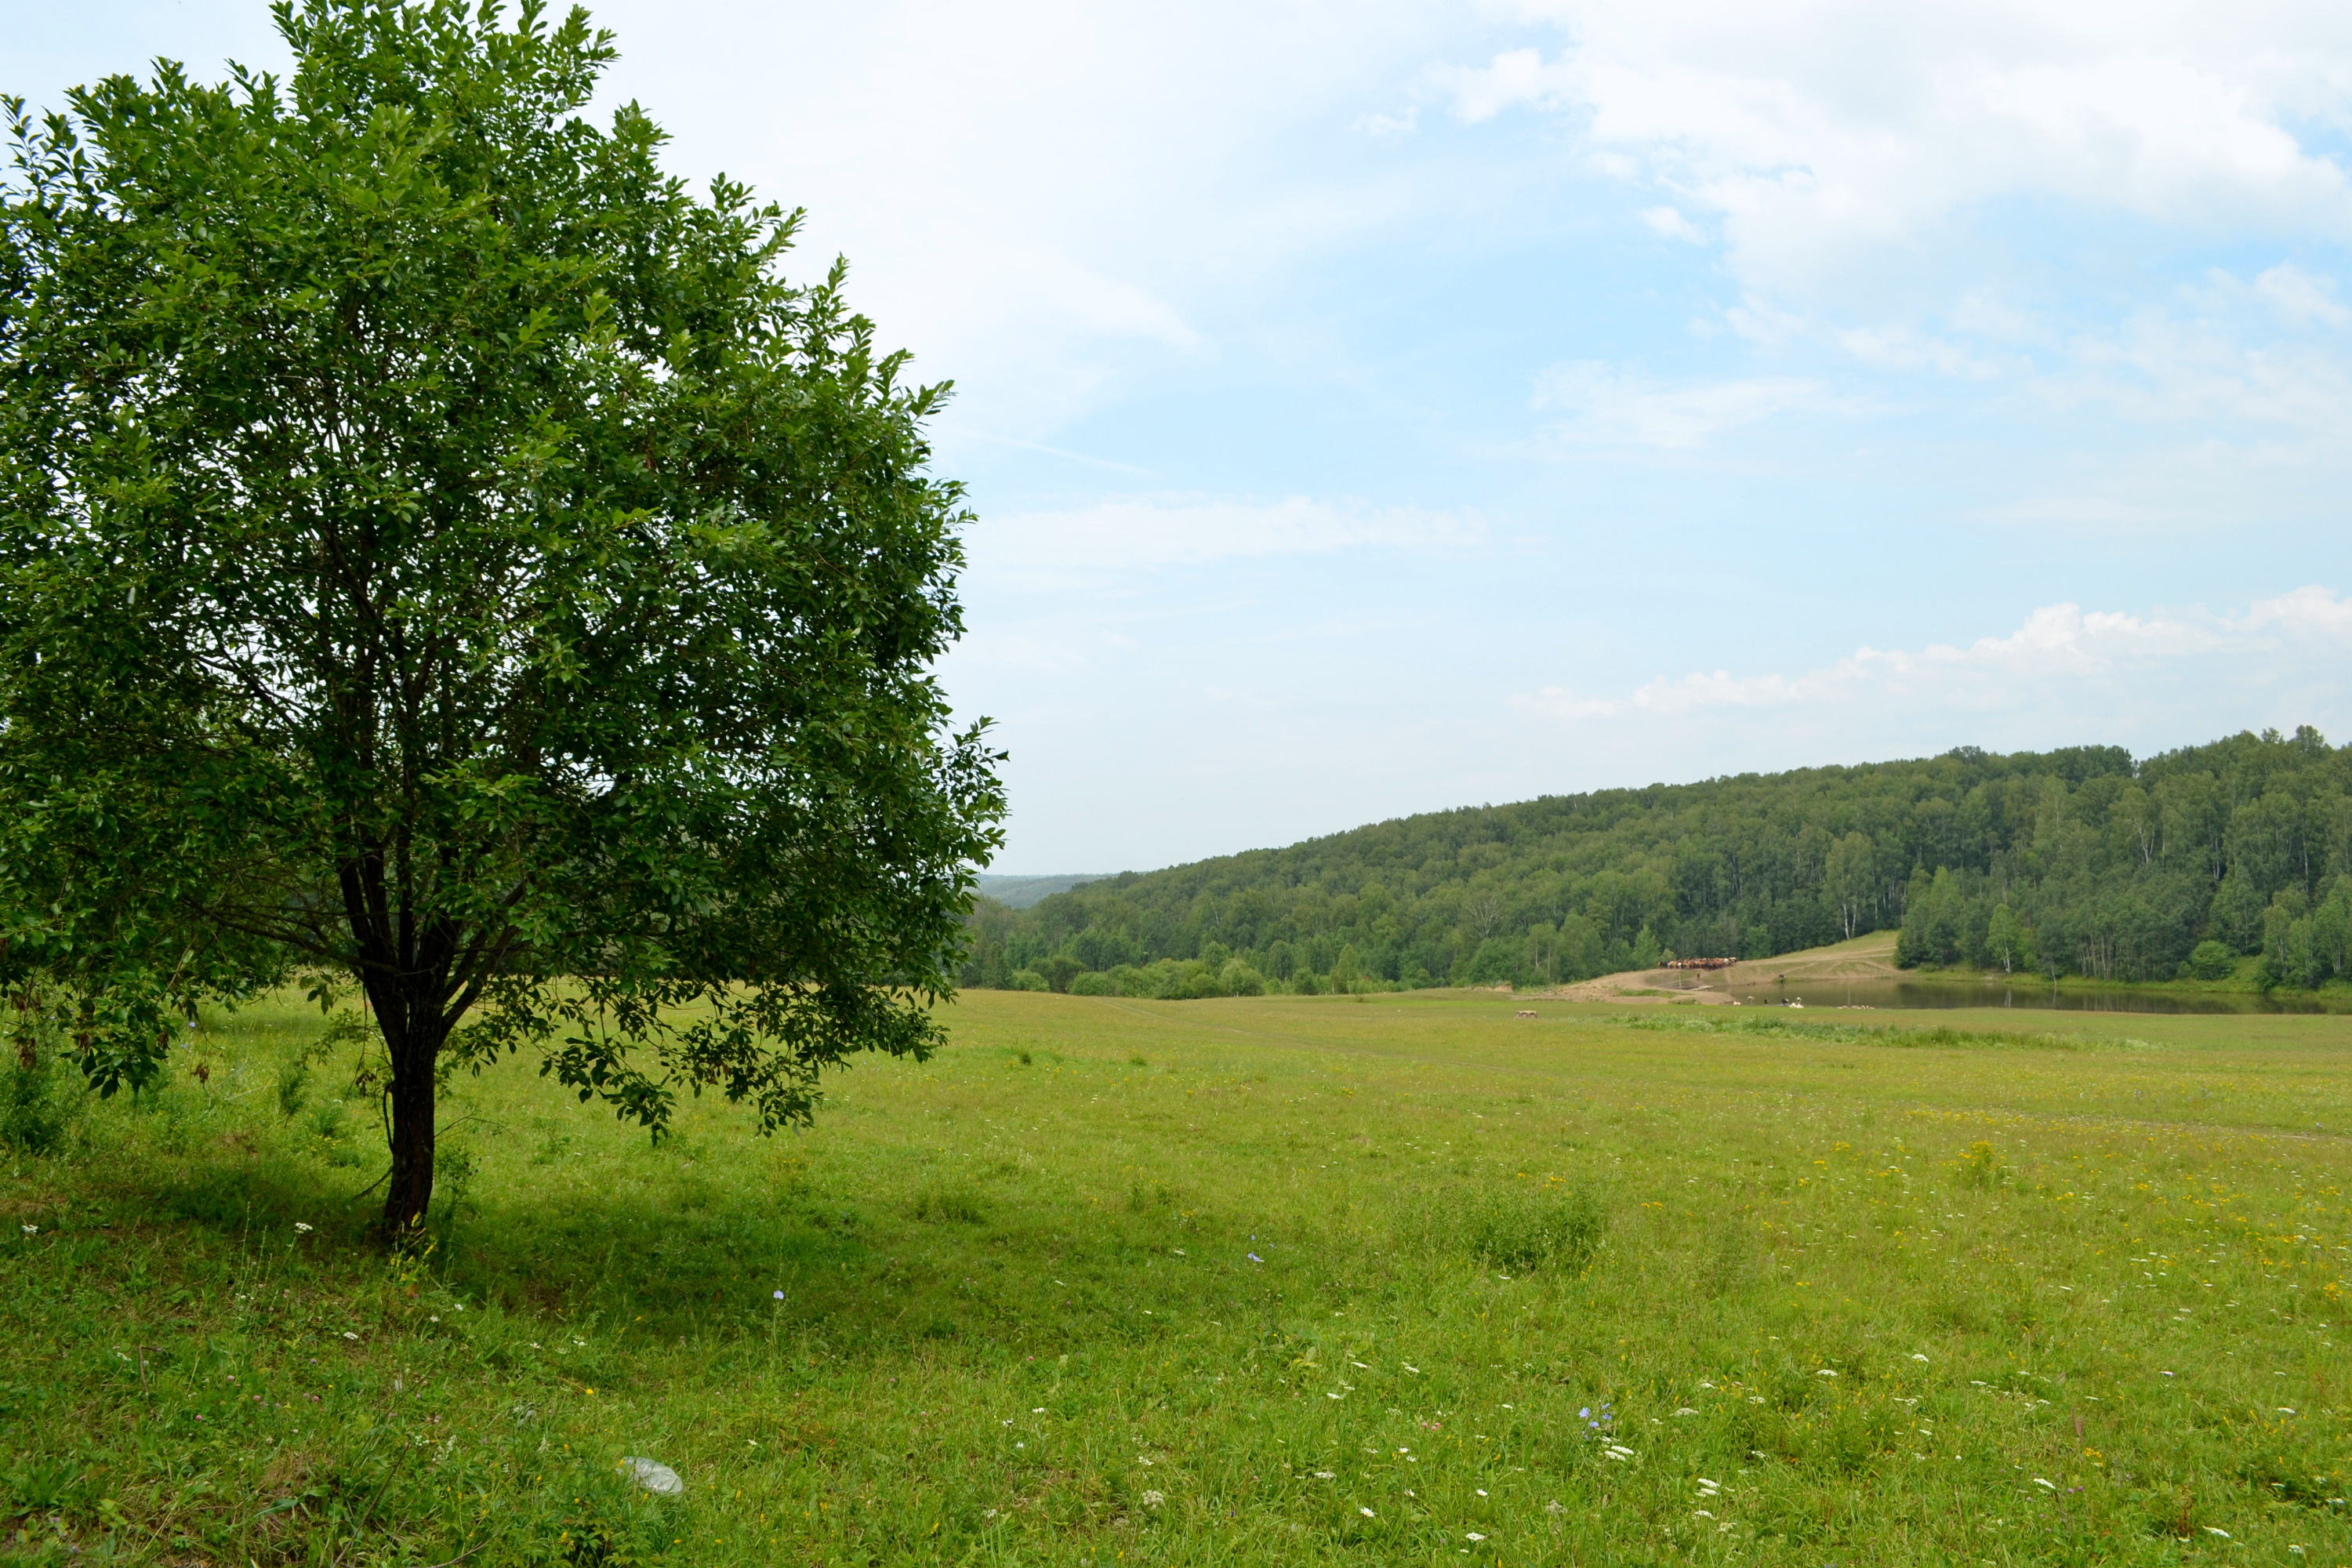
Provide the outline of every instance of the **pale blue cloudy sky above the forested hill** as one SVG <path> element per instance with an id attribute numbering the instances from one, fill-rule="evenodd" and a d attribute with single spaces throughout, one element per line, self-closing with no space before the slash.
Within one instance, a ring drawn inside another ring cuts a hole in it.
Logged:
<path id="1" fill-rule="evenodd" d="M 2352 738 L 2352 7 L 597 7 L 957 397 L 1000 870 Z M 0 0 L 0 89 L 275 61 Z"/>

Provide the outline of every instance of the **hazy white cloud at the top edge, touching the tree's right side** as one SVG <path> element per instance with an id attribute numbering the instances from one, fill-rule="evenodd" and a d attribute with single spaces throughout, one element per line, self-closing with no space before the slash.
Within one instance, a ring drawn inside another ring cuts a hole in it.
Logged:
<path id="1" fill-rule="evenodd" d="M 1214 355 L 1218 280 L 1390 221 L 1409 197 L 1381 172 L 1268 153 L 1359 120 L 1444 35 L 1418 0 L 1364 0 L 1345 26 L 1244 0 L 604 0 L 595 19 L 623 49 L 612 96 L 675 132 L 670 167 L 804 205 L 802 270 L 847 254 L 884 341 L 1004 435 Z"/>

